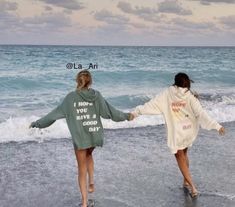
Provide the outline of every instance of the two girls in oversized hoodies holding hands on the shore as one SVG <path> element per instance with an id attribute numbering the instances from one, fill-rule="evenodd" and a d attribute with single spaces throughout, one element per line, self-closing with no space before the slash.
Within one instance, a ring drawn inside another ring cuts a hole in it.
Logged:
<path id="1" fill-rule="evenodd" d="M 89 71 L 79 72 L 76 81 L 77 89 L 70 92 L 52 112 L 31 123 L 31 127 L 45 128 L 57 119 L 66 118 L 78 164 L 82 207 L 88 205 L 87 188 L 88 192 L 94 192 L 92 152 L 95 147 L 103 145 L 101 117 L 118 122 L 130 121 L 142 114 L 163 114 L 168 129 L 167 144 L 175 154 L 183 174 L 183 185 L 191 189 L 192 197 L 197 196 L 198 192 L 189 171 L 187 149 L 195 140 L 199 125 L 208 130 L 217 129 L 220 134 L 224 133 L 224 128 L 202 109 L 200 102 L 190 91 L 191 80 L 186 74 L 177 74 L 173 86 L 143 106 L 136 107 L 132 113 L 123 113 L 115 109 L 100 92 L 90 88 L 92 77 Z"/>

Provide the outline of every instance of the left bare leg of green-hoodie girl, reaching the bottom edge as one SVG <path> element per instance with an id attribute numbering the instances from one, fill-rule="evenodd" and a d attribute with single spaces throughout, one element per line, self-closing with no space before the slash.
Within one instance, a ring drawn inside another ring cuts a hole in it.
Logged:
<path id="1" fill-rule="evenodd" d="M 87 150 L 75 150 L 78 163 L 78 183 L 82 194 L 82 207 L 87 207 Z"/>

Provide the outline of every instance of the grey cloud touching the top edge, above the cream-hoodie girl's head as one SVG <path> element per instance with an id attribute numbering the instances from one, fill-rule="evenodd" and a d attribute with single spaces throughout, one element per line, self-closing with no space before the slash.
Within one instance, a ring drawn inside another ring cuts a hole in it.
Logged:
<path id="1" fill-rule="evenodd" d="M 167 0 L 158 4 L 158 12 L 178 15 L 191 15 L 192 11 L 184 9 L 178 0 Z"/>

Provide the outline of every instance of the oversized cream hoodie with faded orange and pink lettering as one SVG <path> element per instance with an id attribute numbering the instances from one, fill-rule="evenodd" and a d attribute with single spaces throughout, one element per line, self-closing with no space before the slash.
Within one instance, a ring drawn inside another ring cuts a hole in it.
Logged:
<path id="1" fill-rule="evenodd" d="M 192 146 L 199 125 L 207 130 L 222 126 L 202 108 L 199 100 L 186 88 L 170 86 L 144 105 L 137 106 L 134 115 L 163 114 L 167 126 L 167 145 L 175 154 Z"/>

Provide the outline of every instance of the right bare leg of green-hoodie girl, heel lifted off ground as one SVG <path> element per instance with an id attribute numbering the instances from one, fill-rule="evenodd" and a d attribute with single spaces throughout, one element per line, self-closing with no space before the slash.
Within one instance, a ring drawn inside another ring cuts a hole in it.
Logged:
<path id="1" fill-rule="evenodd" d="M 94 186 L 94 160 L 92 152 L 95 148 L 90 148 L 87 150 L 87 170 L 88 170 L 88 192 L 93 193 L 95 191 Z"/>

